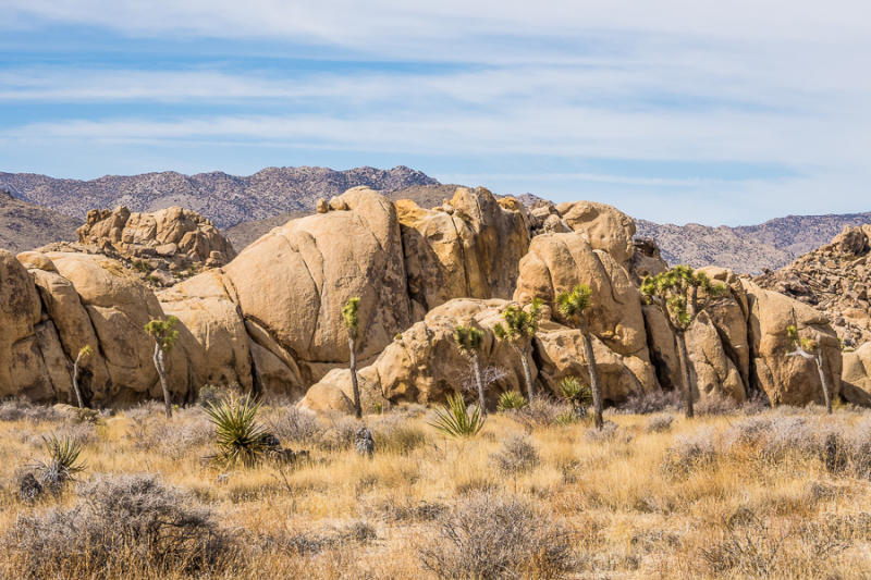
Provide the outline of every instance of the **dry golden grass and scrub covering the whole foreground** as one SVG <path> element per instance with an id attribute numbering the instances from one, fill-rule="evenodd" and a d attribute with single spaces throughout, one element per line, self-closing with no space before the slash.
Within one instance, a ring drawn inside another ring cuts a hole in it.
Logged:
<path id="1" fill-rule="evenodd" d="M 272 407 L 265 423 L 311 460 L 219 472 L 201 464 L 211 431 L 198 409 L 167 421 L 145 406 L 78 427 L 15 403 L 0 415 L 0 578 L 871 576 L 864 414 L 618 414 L 600 434 L 542 409 L 493 415 L 471 441 L 438 435 L 419 409 L 367 417 L 369 459 L 348 444 L 356 421 Z M 75 437 L 88 469 L 62 493 L 23 502 L 16 478 L 49 433 Z M 112 520 L 112 503 L 94 507 L 100 482 L 142 474 L 194 526 L 183 550 L 125 540 L 111 557 L 105 545 L 83 557 L 95 538 L 126 538 L 94 531 L 95 514 Z M 64 530 L 65 544 L 52 540 Z M 468 547 L 488 542 L 501 552 Z"/>

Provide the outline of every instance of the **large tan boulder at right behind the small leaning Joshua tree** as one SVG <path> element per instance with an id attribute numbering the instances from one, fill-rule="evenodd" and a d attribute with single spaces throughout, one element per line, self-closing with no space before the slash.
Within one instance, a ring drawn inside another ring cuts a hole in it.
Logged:
<path id="1" fill-rule="evenodd" d="M 741 279 L 748 298 L 748 337 L 752 381 L 762 388 L 775 405 L 806 405 L 823 403 L 822 386 L 817 366 L 801 357 L 787 357 L 793 350 L 786 329 L 795 324 L 805 337 L 820 336 L 824 372 L 832 396 L 841 390 L 841 344 L 822 312 L 782 294 L 765 291 Z"/>

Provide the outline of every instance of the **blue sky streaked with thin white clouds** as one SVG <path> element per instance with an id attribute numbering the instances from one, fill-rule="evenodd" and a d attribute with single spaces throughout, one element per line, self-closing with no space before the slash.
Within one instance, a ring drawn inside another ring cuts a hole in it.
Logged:
<path id="1" fill-rule="evenodd" d="M 408 165 L 660 223 L 871 211 L 864 0 L 0 0 L 0 171 Z"/>

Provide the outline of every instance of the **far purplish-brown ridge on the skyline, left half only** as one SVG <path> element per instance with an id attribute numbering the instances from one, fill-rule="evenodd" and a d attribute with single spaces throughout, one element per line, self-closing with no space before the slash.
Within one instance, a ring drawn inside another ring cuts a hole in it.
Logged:
<path id="1" fill-rule="evenodd" d="M 413 185 L 437 185 L 426 174 L 400 165 L 392 170 L 356 168 L 267 168 L 248 176 L 223 172 L 183 175 L 172 171 L 107 175 L 98 180 L 56 180 L 32 173 L 0 173 L 0 189 L 14 197 L 84 221 L 94 208 L 125 206 L 149 212 L 181 206 L 226 229 L 238 222 L 281 213 L 310 211 L 321 197 L 356 186 L 393 192 Z"/>

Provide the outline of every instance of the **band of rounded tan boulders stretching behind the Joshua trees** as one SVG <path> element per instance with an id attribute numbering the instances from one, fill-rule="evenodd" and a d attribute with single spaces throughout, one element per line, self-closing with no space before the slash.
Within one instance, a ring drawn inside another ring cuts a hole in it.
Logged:
<path id="1" fill-rule="evenodd" d="M 83 236 L 122 248 L 165 242 L 177 249 L 192 232 L 210 235 L 211 226 L 186 210 L 135 215 L 123 208 L 100 214 Z M 453 341 L 457 324 L 480 328 L 482 362 L 504 371 L 488 392 L 489 405 L 504 391 L 525 391 L 518 354 L 492 329 L 512 299 L 526 305 L 533 297 L 551 305 L 529 355 L 533 380 L 539 391 L 559 394 L 565 377 L 589 378 L 579 331 L 550 319 L 556 295 L 578 283 L 593 291 L 589 321 L 604 398 L 680 388 L 674 335 L 637 291 L 645 273 L 665 264 L 655 244 L 633 244 L 627 220 L 586 202 L 527 212 L 516 200 L 466 188 L 430 210 L 357 187 L 272 230 L 226 266 L 158 294 L 130 264 L 106 255 L 33 251 L 15 259 L 0 252 L 0 396 L 72 402 L 71 361 L 90 345 L 94 354 L 82 365 L 90 405 L 159 398 L 154 342 L 144 326 L 175 316 L 180 341 L 168 370 L 176 402 L 205 384 L 237 383 L 302 398 L 311 410 L 348 411 L 341 310 L 351 297 L 360 298 L 358 378 L 367 408 L 442 402 L 461 388 L 469 365 Z M 198 248 L 191 251 L 199 256 Z M 762 388 L 780 403 L 821 398 L 815 367 L 784 356 L 790 323 L 821 333 L 837 393 L 841 351 L 824 317 L 731 271 L 708 274 L 729 292 L 687 335 L 697 397 L 740 400 Z M 860 367 L 850 366 L 857 388 L 864 384 Z"/>

